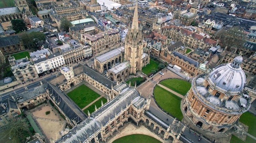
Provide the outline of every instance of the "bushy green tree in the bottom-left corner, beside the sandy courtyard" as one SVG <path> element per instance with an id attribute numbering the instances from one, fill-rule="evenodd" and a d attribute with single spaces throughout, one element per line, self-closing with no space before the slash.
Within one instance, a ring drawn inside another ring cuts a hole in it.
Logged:
<path id="1" fill-rule="evenodd" d="M 29 124 L 22 117 L 13 117 L 0 128 L 2 142 L 25 142 L 29 134 Z"/>

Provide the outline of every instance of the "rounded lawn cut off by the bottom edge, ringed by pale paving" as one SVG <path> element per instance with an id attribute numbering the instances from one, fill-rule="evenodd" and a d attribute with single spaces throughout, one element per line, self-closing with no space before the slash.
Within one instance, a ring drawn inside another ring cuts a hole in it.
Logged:
<path id="1" fill-rule="evenodd" d="M 119 138 L 112 143 L 161 143 L 157 139 L 141 134 L 134 134 Z"/>

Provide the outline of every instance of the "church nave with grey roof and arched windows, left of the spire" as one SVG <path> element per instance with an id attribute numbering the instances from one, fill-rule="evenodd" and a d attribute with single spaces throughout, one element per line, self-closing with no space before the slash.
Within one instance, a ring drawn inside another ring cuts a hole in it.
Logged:
<path id="1" fill-rule="evenodd" d="M 94 69 L 97 70 L 99 73 L 103 73 L 114 67 L 116 64 L 123 62 L 122 53 L 124 52 L 124 50 L 124 47 L 120 47 L 118 49 L 114 49 L 110 52 L 102 54 L 98 57 L 95 57 Z"/>

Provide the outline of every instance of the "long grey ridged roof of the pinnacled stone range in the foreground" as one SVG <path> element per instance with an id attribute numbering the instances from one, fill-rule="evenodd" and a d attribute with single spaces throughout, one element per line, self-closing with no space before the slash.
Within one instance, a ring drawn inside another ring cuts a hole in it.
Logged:
<path id="1" fill-rule="evenodd" d="M 134 106 L 138 106 L 138 101 L 143 101 L 143 104 L 146 102 L 146 100 L 139 95 L 136 89 L 128 87 L 56 142 L 86 142 L 87 137 L 94 135 L 95 131 L 101 129 L 101 125 L 105 126 L 109 120 L 115 118 L 115 114 L 125 112 L 124 109 L 126 108 L 126 105 L 129 105 L 131 101 Z M 141 108 L 143 104 L 139 104 L 138 107 Z"/>

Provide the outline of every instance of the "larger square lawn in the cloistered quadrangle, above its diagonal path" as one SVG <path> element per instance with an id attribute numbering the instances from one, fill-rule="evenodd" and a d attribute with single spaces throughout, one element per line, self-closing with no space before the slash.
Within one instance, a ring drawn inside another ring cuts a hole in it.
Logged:
<path id="1" fill-rule="evenodd" d="M 100 95 L 86 85 L 81 85 L 67 94 L 81 109 L 96 100 Z"/>

